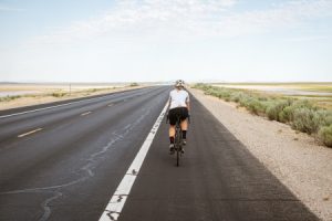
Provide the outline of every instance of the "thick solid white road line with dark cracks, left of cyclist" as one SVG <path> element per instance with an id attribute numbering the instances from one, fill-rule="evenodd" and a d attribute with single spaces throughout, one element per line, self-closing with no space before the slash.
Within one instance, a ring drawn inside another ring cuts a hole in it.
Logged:
<path id="1" fill-rule="evenodd" d="M 155 135 L 163 122 L 165 113 L 167 110 L 167 104 L 165 105 L 164 109 L 162 110 L 160 115 L 158 116 L 156 123 L 154 124 L 152 130 L 147 135 L 145 141 L 143 143 L 139 151 L 137 152 L 134 161 L 132 162 L 131 167 L 128 168 L 127 172 L 123 177 L 122 181 L 120 182 L 117 189 L 113 193 L 106 209 L 104 210 L 103 214 L 100 218 L 100 221 L 110 221 L 110 220 L 117 220 L 122 208 L 124 207 L 126 199 L 131 192 L 131 189 L 135 182 L 135 179 L 139 172 L 141 166 L 146 157 L 146 154 L 155 138 Z"/>

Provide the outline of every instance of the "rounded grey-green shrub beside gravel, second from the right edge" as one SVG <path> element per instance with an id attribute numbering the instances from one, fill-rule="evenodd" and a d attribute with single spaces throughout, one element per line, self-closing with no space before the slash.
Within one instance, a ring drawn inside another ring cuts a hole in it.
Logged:
<path id="1" fill-rule="evenodd" d="M 293 113 L 292 128 L 307 134 L 317 133 L 320 124 L 315 117 L 317 113 L 312 108 L 301 107 Z"/>

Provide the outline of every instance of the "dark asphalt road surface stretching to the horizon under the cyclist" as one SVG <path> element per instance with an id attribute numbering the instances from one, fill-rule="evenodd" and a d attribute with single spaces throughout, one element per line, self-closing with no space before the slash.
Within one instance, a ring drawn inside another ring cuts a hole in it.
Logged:
<path id="1" fill-rule="evenodd" d="M 0 220 L 98 220 L 169 90 L 0 112 Z M 191 106 L 180 166 L 163 123 L 118 220 L 318 220 L 193 97 Z"/>

